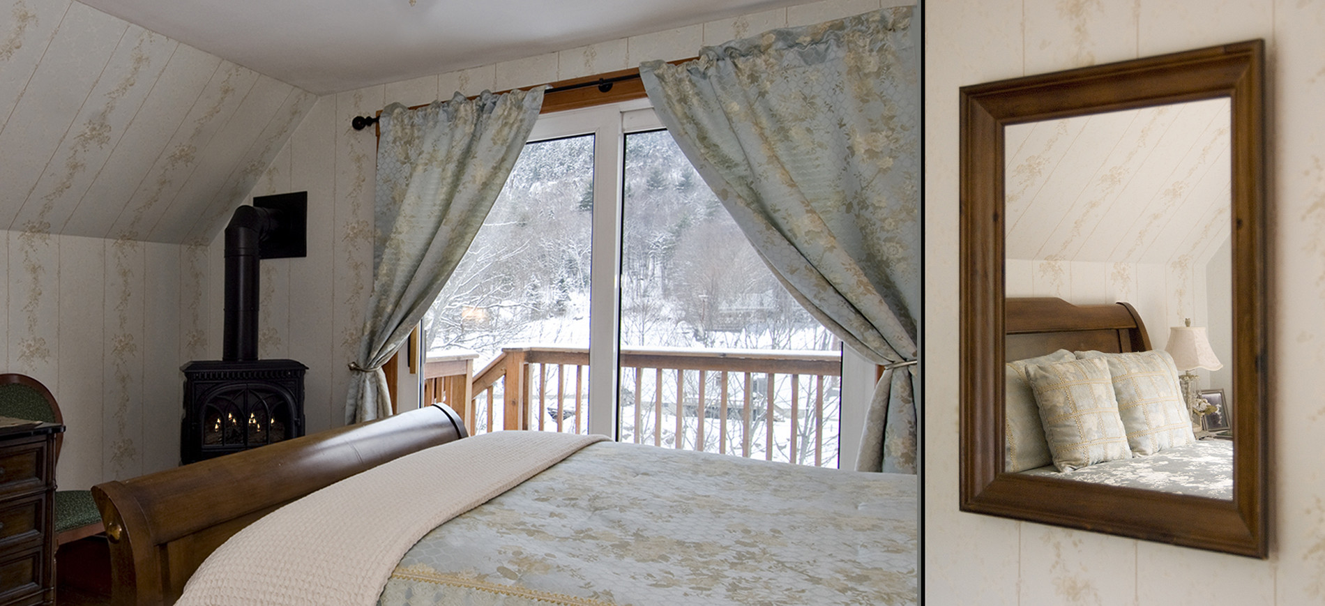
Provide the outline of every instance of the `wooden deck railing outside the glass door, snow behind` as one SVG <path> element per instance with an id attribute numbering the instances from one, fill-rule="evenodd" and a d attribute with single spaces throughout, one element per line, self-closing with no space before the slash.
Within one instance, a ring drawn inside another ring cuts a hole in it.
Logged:
<path id="1" fill-rule="evenodd" d="M 588 350 L 509 347 L 468 382 L 435 361 L 425 395 L 444 394 L 473 434 L 586 431 Z M 620 366 L 623 442 L 836 467 L 837 353 L 623 347 Z"/>

